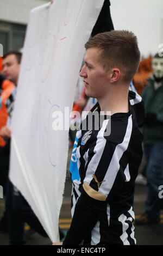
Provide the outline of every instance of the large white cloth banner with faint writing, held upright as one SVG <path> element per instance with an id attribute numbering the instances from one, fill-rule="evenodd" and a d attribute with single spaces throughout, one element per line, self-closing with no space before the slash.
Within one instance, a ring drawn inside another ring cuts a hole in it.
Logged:
<path id="1" fill-rule="evenodd" d="M 68 127 L 53 130 L 54 112 L 70 111 L 89 39 L 104 0 L 54 0 L 30 12 L 14 113 L 10 180 L 52 242 L 66 177 Z"/>

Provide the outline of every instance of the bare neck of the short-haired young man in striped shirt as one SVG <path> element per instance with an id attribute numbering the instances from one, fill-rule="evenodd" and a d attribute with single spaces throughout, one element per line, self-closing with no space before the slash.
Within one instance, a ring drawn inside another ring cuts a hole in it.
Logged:
<path id="1" fill-rule="evenodd" d="M 115 113 L 127 113 L 129 112 L 128 105 L 128 92 L 129 89 L 118 88 L 117 92 L 115 90 L 110 90 L 110 92 L 103 98 L 97 99 L 101 111 L 110 111 L 111 115 Z"/>

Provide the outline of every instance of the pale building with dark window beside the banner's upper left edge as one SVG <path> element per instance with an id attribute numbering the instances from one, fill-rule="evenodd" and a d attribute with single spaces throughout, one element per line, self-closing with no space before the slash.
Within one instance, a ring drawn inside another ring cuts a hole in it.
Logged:
<path id="1" fill-rule="evenodd" d="M 46 4 L 50 0 L 0 0 L 0 44 L 3 53 L 22 51 L 32 8 Z"/>

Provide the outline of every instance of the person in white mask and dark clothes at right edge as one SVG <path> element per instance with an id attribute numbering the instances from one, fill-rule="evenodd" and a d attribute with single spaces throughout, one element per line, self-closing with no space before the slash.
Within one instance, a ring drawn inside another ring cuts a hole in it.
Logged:
<path id="1" fill-rule="evenodd" d="M 163 185 L 163 57 L 155 54 L 152 60 L 153 74 L 143 90 L 145 105 L 145 127 L 143 143 L 147 162 L 147 199 L 145 213 L 135 224 L 153 224 L 160 222 Z"/>

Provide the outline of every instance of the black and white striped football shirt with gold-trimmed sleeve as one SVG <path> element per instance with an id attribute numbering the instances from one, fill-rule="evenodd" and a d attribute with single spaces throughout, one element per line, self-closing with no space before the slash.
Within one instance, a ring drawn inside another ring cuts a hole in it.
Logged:
<path id="1" fill-rule="evenodd" d="M 100 117 L 98 102 L 95 111 Z M 129 91 L 128 113 L 111 115 L 111 123 L 105 116 L 98 130 L 77 132 L 70 164 L 73 218 L 63 245 L 136 244 L 133 200 L 144 116 L 141 97 Z"/>

